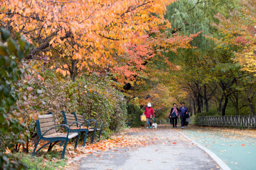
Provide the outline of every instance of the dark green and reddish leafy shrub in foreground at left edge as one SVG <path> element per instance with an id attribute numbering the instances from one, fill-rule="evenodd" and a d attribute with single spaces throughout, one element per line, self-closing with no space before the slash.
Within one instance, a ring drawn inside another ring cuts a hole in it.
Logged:
<path id="1" fill-rule="evenodd" d="M 23 36 L 11 39 L 9 31 L 0 29 L 0 169 L 26 169 L 18 158 L 4 152 L 17 152 L 18 144 L 24 145 L 30 137 L 44 90 L 38 74 L 31 71 L 36 68 L 22 61 L 32 45 Z"/>

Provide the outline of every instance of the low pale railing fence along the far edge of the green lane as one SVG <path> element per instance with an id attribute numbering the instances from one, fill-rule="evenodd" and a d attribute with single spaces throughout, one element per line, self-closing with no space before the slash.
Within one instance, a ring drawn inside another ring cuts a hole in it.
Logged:
<path id="1" fill-rule="evenodd" d="M 190 125 L 256 127 L 256 115 L 196 117 Z"/>

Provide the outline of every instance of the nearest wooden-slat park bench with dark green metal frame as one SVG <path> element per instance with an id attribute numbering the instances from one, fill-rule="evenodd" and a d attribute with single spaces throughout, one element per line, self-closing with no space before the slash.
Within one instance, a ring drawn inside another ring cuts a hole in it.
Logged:
<path id="1" fill-rule="evenodd" d="M 79 128 L 74 133 L 70 132 L 70 127 L 72 127 L 73 124 L 79 125 Z M 52 112 L 48 113 L 47 115 L 39 115 L 38 120 L 36 121 L 36 127 L 37 127 L 37 133 L 38 133 L 39 139 L 38 139 L 38 141 L 35 145 L 32 156 L 35 156 L 37 154 L 37 152 L 39 152 L 42 148 L 44 148 L 48 144 L 50 144 L 50 146 L 48 148 L 48 152 L 50 152 L 52 150 L 52 147 L 58 141 L 63 141 L 63 142 L 65 142 L 65 145 L 64 145 L 63 150 L 62 150 L 62 155 L 61 155 L 61 159 L 63 159 L 64 156 L 65 156 L 66 145 L 68 143 L 68 140 L 72 139 L 74 137 L 77 137 L 76 144 L 75 144 L 75 147 L 74 147 L 74 149 L 76 149 L 78 138 L 81 135 L 80 134 L 80 128 L 81 128 L 80 123 L 70 122 L 70 123 L 67 123 L 66 125 L 57 125 L 56 126 L 55 119 L 54 119 L 54 116 L 53 116 Z M 60 128 L 57 130 L 57 127 L 60 127 Z M 64 133 L 59 132 L 60 129 L 63 129 L 64 127 L 66 129 L 66 132 L 64 132 Z M 36 151 L 36 147 L 37 147 L 40 140 L 49 141 L 49 142 L 44 144 L 42 147 L 40 147 Z"/>

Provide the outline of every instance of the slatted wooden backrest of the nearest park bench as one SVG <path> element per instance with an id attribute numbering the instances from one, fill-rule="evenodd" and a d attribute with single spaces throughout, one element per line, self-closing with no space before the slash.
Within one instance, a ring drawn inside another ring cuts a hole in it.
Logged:
<path id="1" fill-rule="evenodd" d="M 41 135 L 44 134 L 44 132 L 48 131 L 52 127 L 55 126 L 55 119 L 53 117 L 52 112 L 48 113 L 47 115 L 40 115 L 38 116 L 38 120 L 36 121 L 36 126 L 37 126 L 37 132 L 38 136 L 40 137 Z M 50 135 L 52 133 L 56 132 L 56 128 L 51 129 L 45 135 Z"/>

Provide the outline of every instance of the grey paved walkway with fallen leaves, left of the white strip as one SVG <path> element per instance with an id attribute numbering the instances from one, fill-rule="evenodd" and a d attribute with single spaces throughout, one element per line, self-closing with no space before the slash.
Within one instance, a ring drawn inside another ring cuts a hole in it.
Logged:
<path id="1" fill-rule="evenodd" d="M 128 134 L 150 137 L 147 145 L 94 152 L 83 158 L 82 170 L 220 170 L 212 158 L 170 126 Z M 176 144 L 173 144 L 176 143 Z M 100 155 L 96 156 L 96 155 Z"/>

